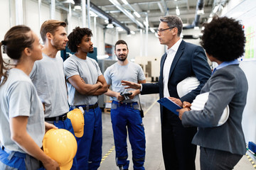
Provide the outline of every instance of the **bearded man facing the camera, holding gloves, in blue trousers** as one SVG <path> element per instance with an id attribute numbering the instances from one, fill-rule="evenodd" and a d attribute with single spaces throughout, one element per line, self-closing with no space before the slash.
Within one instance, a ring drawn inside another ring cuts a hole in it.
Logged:
<path id="1" fill-rule="evenodd" d="M 112 90 L 108 89 L 105 94 L 112 98 L 111 120 L 117 166 L 119 169 L 128 169 L 129 167 L 129 160 L 127 160 L 128 130 L 129 142 L 132 145 L 133 168 L 144 169 L 146 140 L 138 105 L 139 90 L 128 89 L 131 94 L 124 98 L 121 93 L 125 95 L 126 89 L 122 86 L 121 81 L 141 84 L 146 83 L 146 78 L 139 64 L 127 60 L 128 53 L 127 43 L 124 40 L 118 40 L 114 46 L 114 54 L 118 60 L 104 73 L 108 87 L 112 86 Z"/>

